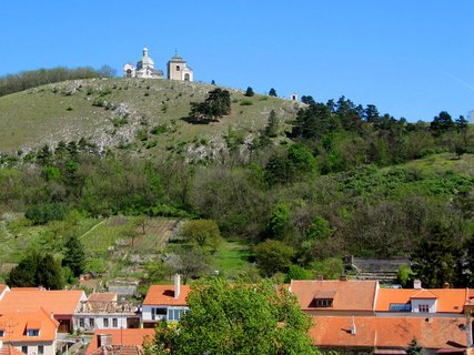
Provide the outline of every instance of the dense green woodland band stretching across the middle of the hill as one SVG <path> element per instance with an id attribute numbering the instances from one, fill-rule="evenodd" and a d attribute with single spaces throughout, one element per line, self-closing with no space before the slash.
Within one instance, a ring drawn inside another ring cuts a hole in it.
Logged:
<path id="1" fill-rule="evenodd" d="M 346 254 L 410 256 L 407 278 L 473 286 L 467 121 L 441 112 L 431 123 L 410 123 L 344 97 L 302 101 L 290 130 L 272 111 L 250 154 L 229 141 L 219 162 L 189 163 L 172 152 L 138 160 L 99 151 L 87 139 L 0 155 L 0 214 L 23 212 L 34 224 L 71 211 L 212 220 L 224 237 L 254 246 L 264 276 L 303 278 L 312 270 L 331 276 Z M 208 103 L 192 105 L 192 124 L 206 121 Z M 211 120 L 222 114 L 214 110 Z M 417 164 L 428 159 L 444 165 Z M 464 170 L 445 165 L 463 160 Z"/>

